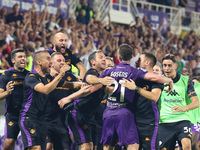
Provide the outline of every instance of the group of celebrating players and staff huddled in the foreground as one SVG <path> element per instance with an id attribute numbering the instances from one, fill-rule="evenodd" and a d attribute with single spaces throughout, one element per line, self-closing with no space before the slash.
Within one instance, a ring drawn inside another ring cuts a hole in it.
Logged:
<path id="1" fill-rule="evenodd" d="M 128 150 L 174 150 L 176 142 L 183 150 L 198 149 L 200 84 L 192 81 L 190 68 L 176 72 L 173 54 L 163 57 L 162 75 L 151 53 L 142 53 L 138 68 L 131 67 L 133 49 L 122 44 L 119 65 L 96 50 L 86 72 L 66 49 L 65 34 L 55 34 L 53 42 L 54 51 L 34 54 L 31 72 L 25 70 L 25 51 L 13 50 L 14 67 L 0 76 L 4 150 L 14 148 L 19 131 L 27 150 L 68 150 L 74 143 L 81 150 L 117 149 L 117 143 Z M 81 82 L 71 64 L 78 66 Z"/>

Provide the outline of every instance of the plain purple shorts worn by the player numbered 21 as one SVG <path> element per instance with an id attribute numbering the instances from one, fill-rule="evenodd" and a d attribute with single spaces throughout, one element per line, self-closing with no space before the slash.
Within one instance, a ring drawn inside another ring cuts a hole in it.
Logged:
<path id="1" fill-rule="evenodd" d="M 103 121 L 101 143 L 114 146 L 139 144 L 138 130 L 133 116 L 111 116 Z"/>

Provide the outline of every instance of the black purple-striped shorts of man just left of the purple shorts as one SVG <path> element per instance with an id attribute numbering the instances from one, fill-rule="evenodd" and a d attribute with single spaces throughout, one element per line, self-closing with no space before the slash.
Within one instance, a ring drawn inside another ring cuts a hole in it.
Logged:
<path id="1" fill-rule="evenodd" d="M 90 121 L 91 120 L 93 119 L 90 118 Z M 68 122 L 77 145 L 89 142 L 93 142 L 94 145 L 97 144 L 96 125 L 90 123 L 90 121 L 88 121 L 88 118 L 78 110 L 73 109 L 71 111 Z"/>

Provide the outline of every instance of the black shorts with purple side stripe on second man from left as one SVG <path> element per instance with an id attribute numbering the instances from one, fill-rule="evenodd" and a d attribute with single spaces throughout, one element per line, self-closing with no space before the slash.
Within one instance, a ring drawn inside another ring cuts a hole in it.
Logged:
<path id="1" fill-rule="evenodd" d="M 41 124 L 36 120 L 30 120 L 28 117 L 22 117 L 19 120 L 19 126 L 25 149 L 30 146 L 40 145 L 42 150 L 46 150 L 47 128 L 45 124 Z"/>

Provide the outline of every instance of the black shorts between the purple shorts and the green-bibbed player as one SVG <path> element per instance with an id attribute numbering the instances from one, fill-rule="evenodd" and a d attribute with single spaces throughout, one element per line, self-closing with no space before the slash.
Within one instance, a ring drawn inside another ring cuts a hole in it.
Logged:
<path id="1" fill-rule="evenodd" d="M 136 123 L 140 150 L 157 150 L 158 149 L 158 125 Z"/>

